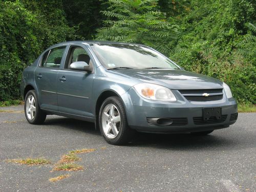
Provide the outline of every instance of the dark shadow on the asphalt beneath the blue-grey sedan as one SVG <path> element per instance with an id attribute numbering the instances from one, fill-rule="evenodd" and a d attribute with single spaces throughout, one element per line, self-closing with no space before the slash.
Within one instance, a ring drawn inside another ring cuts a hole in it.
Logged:
<path id="1" fill-rule="evenodd" d="M 95 124 L 66 117 L 48 118 L 45 125 L 58 125 L 92 135 L 100 136 L 100 131 L 95 130 Z M 228 128 L 227 128 L 228 129 Z M 228 135 L 216 135 L 218 130 L 205 136 L 191 134 L 150 134 L 137 132 L 131 142 L 123 146 L 131 147 L 156 147 L 172 150 L 200 150 L 205 148 L 236 146 L 238 140 L 229 138 Z M 233 148 L 232 147 L 232 148 Z"/>

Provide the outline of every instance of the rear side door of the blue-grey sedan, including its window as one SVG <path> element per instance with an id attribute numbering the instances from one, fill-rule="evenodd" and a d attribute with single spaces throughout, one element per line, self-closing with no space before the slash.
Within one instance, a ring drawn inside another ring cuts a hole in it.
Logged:
<path id="1" fill-rule="evenodd" d="M 34 72 L 41 109 L 58 111 L 56 79 L 65 49 L 61 46 L 45 52 Z"/>

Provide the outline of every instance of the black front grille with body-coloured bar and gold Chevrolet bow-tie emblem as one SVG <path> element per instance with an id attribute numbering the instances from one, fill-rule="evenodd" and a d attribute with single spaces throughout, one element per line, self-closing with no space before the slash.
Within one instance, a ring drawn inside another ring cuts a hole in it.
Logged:
<path id="1" fill-rule="evenodd" d="M 179 92 L 189 101 L 215 101 L 223 98 L 222 89 L 179 90 Z M 204 93 L 208 93 L 209 96 L 204 96 Z"/>

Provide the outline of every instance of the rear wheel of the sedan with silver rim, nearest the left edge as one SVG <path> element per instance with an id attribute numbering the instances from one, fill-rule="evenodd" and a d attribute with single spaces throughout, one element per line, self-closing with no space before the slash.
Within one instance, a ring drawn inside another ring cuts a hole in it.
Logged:
<path id="1" fill-rule="evenodd" d="M 41 124 L 46 120 L 46 113 L 40 109 L 35 90 L 30 90 L 26 94 L 24 111 L 27 121 L 30 124 Z"/>

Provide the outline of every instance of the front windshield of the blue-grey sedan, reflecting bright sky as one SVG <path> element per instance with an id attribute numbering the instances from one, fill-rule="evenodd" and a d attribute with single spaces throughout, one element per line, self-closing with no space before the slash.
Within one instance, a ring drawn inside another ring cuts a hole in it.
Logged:
<path id="1" fill-rule="evenodd" d="M 94 44 L 91 47 L 106 69 L 180 69 L 167 57 L 140 45 Z"/>

